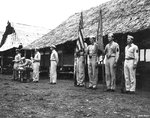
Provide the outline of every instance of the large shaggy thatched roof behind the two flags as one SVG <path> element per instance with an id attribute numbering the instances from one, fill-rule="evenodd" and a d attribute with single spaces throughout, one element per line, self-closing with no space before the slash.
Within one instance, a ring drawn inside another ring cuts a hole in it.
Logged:
<path id="1" fill-rule="evenodd" d="M 102 10 L 103 35 L 109 32 L 137 32 L 150 28 L 150 0 L 112 0 L 100 6 L 83 11 L 84 35 L 95 35 Z M 52 44 L 59 45 L 76 40 L 80 13 L 69 17 L 48 34 L 34 41 L 26 49 L 45 48 Z"/>

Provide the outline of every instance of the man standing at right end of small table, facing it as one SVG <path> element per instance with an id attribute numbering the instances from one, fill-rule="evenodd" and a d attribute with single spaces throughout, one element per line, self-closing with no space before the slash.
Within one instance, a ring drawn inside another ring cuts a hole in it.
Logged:
<path id="1" fill-rule="evenodd" d="M 33 82 L 39 81 L 40 60 L 41 60 L 41 54 L 38 51 L 38 49 L 35 48 L 35 55 L 33 58 Z"/>

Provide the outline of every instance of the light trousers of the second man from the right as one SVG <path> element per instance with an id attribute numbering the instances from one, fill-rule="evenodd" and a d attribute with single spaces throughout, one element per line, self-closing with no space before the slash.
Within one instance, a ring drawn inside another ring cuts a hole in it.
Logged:
<path id="1" fill-rule="evenodd" d="M 115 90 L 116 88 L 116 67 L 114 67 L 115 57 L 106 58 L 105 75 L 107 89 Z"/>

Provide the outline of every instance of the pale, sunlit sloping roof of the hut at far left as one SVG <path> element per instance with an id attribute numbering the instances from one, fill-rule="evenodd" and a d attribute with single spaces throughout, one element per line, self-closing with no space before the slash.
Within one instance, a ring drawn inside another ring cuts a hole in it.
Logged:
<path id="1" fill-rule="evenodd" d="M 7 36 L 5 43 L 0 48 L 0 51 L 5 51 L 13 47 L 18 47 L 20 44 L 24 46 L 29 45 L 31 42 L 40 38 L 50 30 L 43 27 L 31 26 L 20 23 L 12 23 L 16 34 L 10 34 Z M 2 39 L 2 37 L 0 37 Z"/>

